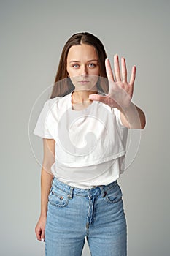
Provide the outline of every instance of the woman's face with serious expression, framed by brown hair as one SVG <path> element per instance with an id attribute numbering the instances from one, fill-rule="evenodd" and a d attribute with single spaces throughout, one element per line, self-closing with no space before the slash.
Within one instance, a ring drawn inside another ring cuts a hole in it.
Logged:
<path id="1" fill-rule="evenodd" d="M 98 56 L 92 45 L 73 45 L 69 49 L 66 69 L 75 90 L 96 90 L 100 70 Z"/>

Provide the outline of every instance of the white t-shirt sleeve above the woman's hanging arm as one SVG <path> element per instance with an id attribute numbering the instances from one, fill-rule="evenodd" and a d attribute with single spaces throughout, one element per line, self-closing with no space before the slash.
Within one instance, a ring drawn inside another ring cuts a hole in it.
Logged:
<path id="1" fill-rule="evenodd" d="M 34 135 L 37 135 L 41 138 L 53 139 L 53 136 L 50 134 L 47 124 L 47 117 L 50 112 L 50 104 L 49 99 L 45 102 L 40 114 L 39 118 L 36 121 L 36 127 L 34 128 Z"/>

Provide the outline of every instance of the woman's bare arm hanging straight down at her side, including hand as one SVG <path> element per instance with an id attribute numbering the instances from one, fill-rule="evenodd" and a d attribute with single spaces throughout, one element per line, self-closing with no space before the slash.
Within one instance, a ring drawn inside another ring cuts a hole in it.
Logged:
<path id="1" fill-rule="evenodd" d="M 41 214 L 36 224 L 36 238 L 45 240 L 45 224 L 47 219 L 47 203 L 53 175 L 50 167 L 55 162 L 55 140 L 43 138 L 44 157 L 41 175 Z"/>

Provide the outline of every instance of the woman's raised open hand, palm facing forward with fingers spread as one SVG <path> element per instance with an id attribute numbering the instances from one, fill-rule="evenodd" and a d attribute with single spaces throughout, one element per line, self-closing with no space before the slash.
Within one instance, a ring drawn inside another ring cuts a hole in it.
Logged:
<path id="1" fill-rule="evenodd" d="M 136 75 L 136 67 L 132 67 L 130 82 L 127 81 L 127 69 L 125 64 L 125 58 L 121 58 L 121 72 L 119 65 L 119 58 L 114 56 L 114 73 L 109 62 L 109 59 L 105 61 L 107 78 L 109 80 L 109 93 L 107 96 L 101 96 L 99 94 L 90 94 L 89 99 L 97 100 L 109 105 L 112 108 L 118 108 L 125 110 L 131 105 L 131 99 L 134 91 L 134 80 Z"/>

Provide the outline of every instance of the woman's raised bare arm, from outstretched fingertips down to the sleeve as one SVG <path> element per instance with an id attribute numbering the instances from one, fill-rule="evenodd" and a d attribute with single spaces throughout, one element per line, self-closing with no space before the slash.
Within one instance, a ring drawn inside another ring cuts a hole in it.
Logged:
<path id="1" fill-rule="evenodd" d="M 107 96 L 90 94 L 89 99 L 103 102 L 111 108 L 120 110 L 120 118 L 125 127 L 130 129 L 144 129 L 146 124 L 144 112 L 131 101 L 134 92 L 136 67 L 132 67 L 131 78 L 128 83 L 125 58 L 121 59 L 122 75 L 120 75 L 119 59 L 117 55 L 114 56 L 115 78 L 109 59 L 106 59 L 105 64 L 107 78 L 109 80 L 109 93 Z"/>

